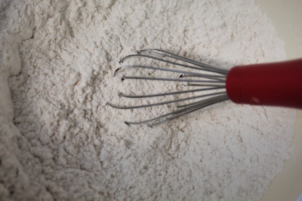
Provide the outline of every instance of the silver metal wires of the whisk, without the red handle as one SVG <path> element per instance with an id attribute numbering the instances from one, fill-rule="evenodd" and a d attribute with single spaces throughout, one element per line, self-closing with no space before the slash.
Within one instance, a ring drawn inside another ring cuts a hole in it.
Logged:
<path id="1" fill-rule="evenodd" d="M 205 63 L 201 63 L 183 56 L 179 56 L 177 54 L 173 54 L 167 51 L 159 50 L 159 49 L 143 49 L 136 51 L 136 54 L 128 55 L 120 60 L 120 63 L 123 63 L 125 60 L 133 57 L 138 58 L 148 58 L 153 59 L 159 62 L 163 62 L 166 64 L 171 64 L 171 66 L 176 65 L 181 67 L 182 69 L 174 69 L 168 67 L 157 67 L 154 65 L 124 65 L 117 68 L 114 71 L 114 76 L 123 69 L 129 68 L 139 68 L 139 69 L 153 69 L 160 71 L 168 71 L 173 73 L 179 73 L 180 76 L 177 78 L 162 78 L 162 77 L 143 77 L 143 76 L 122 76 L 122 80 L 125 79 L 140 79 L 140 80 L 159 80 L 159 81 L 175 81 L 175 82 L 187 82 L 186 86 L 194 86 L 194 89 L 188 90 L 179 90 L 165 93 L 155 93 L 155 94 L 124 94 L 120 92 L 119 95 L 121 97 L 126 98 L 149 98 L 156 96 L 168 96 L 168 95 L 176 95 L 176 94 L 189 94 L 193 92 L 207 92 L 200 95 L 193 95 L 183 98 L 177 98 L 173 100 L 168 100 L 164 102 L 154 103 L 154 104 L 146 104 L 146 105 L 138 105 L 138 106 L 120 106 L 107 102 L 107 104 L 116 109 L 139 109 L 139 108 L 147 108 L 154 107 L 159 105 L 173 104 L 173 103 L 181 103 L 186 100 L 197 99 L 194 102 L 189 104 L 180 104 L 176 106 L 176 110 L 160 115 L 158 117 L 154 117 L 151 119 L 147 119 L 139 122 L 130 122 L 126 121 L 127 125 L 137 125 L 137 124 L 148 124 L 149 127 L 157 126 L 173 119 L 182 117 L 194 111 L 200 110 L 207 106 L 223 102 L 225 100 L 229 100 L 228 95 L 225 91 L 225 78 L 228 74 L 229 70 L 219 68 L 216 66 L 208 65 Z M 192 71 L 194 70 L 194 72 Z M 191 71 L 190 71 L 191 70 Z M 196 72 L 197 71 L 197 72 Z M 201 99 L 202 98 L 202 99 Z M 199 100 L 198 100 L 199 99 Z"/>

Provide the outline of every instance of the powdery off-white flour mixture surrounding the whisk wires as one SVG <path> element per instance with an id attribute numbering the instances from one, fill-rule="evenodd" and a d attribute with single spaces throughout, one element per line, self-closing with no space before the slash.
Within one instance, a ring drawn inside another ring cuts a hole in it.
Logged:
<path id="1" fill-rule="evenodd" d="M 225 102 L 148 128 L 106 105 L 137 87 L 112 77 L 133 50 L 224 68 L 286 59 L 254 1 L 5 0 L 0 11 L 2 200 L 259 200 L 289 157 L 294 110 Z"/>

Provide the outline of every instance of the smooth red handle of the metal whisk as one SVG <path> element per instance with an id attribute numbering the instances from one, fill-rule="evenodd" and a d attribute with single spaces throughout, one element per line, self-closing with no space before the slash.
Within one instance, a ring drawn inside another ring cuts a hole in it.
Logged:
<path id="1" fill-rule="evenodd" d="M 225 85 L 237 104 L 302 109 L 302 59 L 235 66 Z"/>

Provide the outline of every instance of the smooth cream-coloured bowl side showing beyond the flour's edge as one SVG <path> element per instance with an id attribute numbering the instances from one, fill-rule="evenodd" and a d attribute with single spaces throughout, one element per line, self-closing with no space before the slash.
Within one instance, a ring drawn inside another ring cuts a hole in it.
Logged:
<path id="1" fill-rule="evenodd" d="M 302 1 L 256 0 L 256 4 L 268 15 L 279 37 L 285 41 L 287 58 L 302 58 Z M 283 171 L 273 179 L 262 201 L 297 200 L 302 193 L 302 110 L 297 110 L 292 145 L 291 157 Z"/>

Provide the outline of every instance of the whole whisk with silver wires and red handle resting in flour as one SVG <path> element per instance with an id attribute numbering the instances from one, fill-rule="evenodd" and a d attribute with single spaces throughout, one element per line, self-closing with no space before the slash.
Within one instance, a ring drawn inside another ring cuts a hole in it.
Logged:
<path id="1" fill-rule="evenodd" d="M 120 63 L 123 63 L 125 60 L 132 57 L 152 59 L 166 63 L 170 67 L 158 67 L 155 65 L 124 65 L 114 71 L 114 76 L 118 72 L 130 68 L 168 71 L 179 73 L 180 76 L 176 78 L 122 76 L 122 80 L 141 79 L 185 82 L 187 83 L 187 86 L 195 88 L 140 95 L 124 94 L 121 92 L 119 93 L 121 97 L 150 98 L 187 93 L 192 94 L 197 91 L 206 93 L 138 106 L 120 106 L 107 102 L 109 106 L 116 109 L 139 109 L 183 103 L 186 100 L 196 99 L 194 102 L 188 104 L 178 104 L 176 110 L 158 117 L 139 122 L 126 121 L 125 123 L 127 125 L 149 123 L 149 127 L 157 126 L 226 100 L 232 100 L 237 104 L 281 106 L 302 109 L 302 59 L 275 63 L 241 65 L 228 70 L 160 49 L 143 49 L 136 51 L 136 54 L 122 58 Z M 175 66 L 182 69 L 176 69 Z"/>

